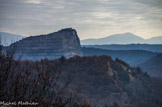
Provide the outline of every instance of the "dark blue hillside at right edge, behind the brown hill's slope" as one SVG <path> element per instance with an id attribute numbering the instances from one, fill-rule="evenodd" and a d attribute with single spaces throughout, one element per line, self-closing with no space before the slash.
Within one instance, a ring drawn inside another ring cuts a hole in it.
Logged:
<path id="1" fill-rule="evenodd" d="M 162 78 L 162 53 L 140 63 L 139 66 L 148 74 Z"/>

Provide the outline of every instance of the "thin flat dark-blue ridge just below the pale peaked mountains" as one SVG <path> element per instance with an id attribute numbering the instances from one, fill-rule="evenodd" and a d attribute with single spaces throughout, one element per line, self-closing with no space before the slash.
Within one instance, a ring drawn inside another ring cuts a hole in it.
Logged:
<path id="1" fill-rule="evenodd" d="M 146 50 L 152 52 L 162 52 L 162 45 L 159 44 L 126 44 L 126 45 L 82 45 L 82 47 L 100 48 L 107 50 Z"/>

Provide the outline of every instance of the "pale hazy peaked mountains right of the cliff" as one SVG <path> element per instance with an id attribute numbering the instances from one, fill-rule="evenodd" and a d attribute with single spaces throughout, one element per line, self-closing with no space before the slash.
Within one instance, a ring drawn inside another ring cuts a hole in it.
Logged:
<path id="1" fill-rule="evenodd" d="M 162 44 L 162 36 L 153 37 L 150 39 L 143 39 L 132 33 L 123 33 L 110 35 L 99 39 L 85 39 L 81 40 L 81 45 L 103 45 L 103 44 Z"/>

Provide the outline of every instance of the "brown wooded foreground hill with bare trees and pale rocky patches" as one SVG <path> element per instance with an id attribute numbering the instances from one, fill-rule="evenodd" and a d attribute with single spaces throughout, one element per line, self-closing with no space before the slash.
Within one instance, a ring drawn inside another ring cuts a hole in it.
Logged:
<path id="1" fill-rule="evenodd" d="M 51 107 L 93 107 L 72 106 L 72 102 L 88 102 L 96 107 L 114 103 L 119 107 L 162 106 L 160 81 L 109 56 L 7 63 L 11 61 L 1 57 L 2 101 L 28 100 Z"/>

